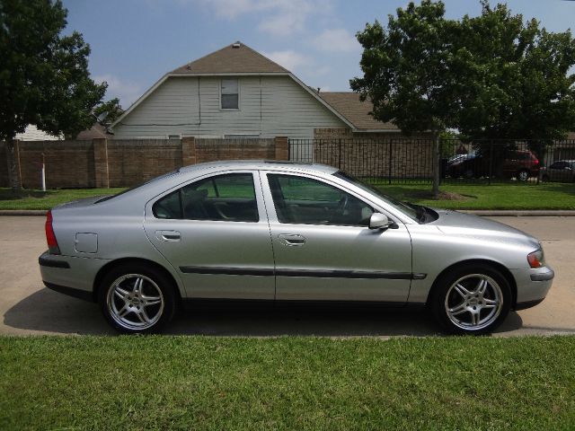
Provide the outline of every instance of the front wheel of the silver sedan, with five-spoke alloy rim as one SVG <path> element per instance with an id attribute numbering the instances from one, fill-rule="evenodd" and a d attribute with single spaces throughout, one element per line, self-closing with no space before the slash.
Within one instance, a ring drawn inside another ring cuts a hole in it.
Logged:
<path id="1" fill-rule="evenodd" d="M 487 334 L 509 314 L 511 288 L 497 269 L 485 264 L 465 265 L 438 278 L 429 306 L 447 333 Z"/>

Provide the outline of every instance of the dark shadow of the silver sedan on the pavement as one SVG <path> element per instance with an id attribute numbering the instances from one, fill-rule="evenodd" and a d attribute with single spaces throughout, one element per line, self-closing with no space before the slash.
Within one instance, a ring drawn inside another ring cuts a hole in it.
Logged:
<path id="1" fill-rule="evenodd" d="M 520 329 L 517 312 L 497 330 Z M 29 295 L 4 313 L 7 333 L 22 330 L 53 334 L 116 335 L 96 303 L 57 294 L 47 288 Z M 14 330 L 10 330 L 13 328 Z M 164 334 L 216 337 L 391 337 L 441 335 L 428 312 L 421 309 L 338 308 L 310 306 L 195 308 L 180 312 Z"/>

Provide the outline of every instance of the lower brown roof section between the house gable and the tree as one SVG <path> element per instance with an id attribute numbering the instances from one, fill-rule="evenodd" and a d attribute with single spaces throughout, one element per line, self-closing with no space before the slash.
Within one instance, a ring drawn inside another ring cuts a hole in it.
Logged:
<path id="1" fill-rule="evenodd" d="M 397 131 L 393 123 L 385 123 L 374 119 L 369 114 L 373 110 L 370 101 L 360 101 L 357 92 L 319 92 L 319 96 L 329 103 L 334 110 L 341 113 L 358 130 Z"/>

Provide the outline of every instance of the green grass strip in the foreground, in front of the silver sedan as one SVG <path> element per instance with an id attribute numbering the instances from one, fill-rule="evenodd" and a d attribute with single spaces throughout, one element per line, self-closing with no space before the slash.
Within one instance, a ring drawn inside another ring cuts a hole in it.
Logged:
<path id="1" fill-rule="evenodd" d="M 0 429 L 573 429 L 575 337 L 0 338 Z"/>

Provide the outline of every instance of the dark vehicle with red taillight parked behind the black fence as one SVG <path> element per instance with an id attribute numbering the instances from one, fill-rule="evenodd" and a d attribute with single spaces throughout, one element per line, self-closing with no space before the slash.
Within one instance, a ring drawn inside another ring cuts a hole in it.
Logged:
<path id="1" fill-rule="evenodd" d="M 503 162 L 493 160 L 491 163 L 491 176 L 498 174 L 504 178 L 517 178 L 526 181 L 529 177 L 539 174 L 539 160 L 535 154 L 528 150 L 509 150 L 503 154 Z M 447 163 L 447 175 L 452 178 L 480 178 L 490 174 L 489 155 L 481 152 L 467 154 Z"/>

